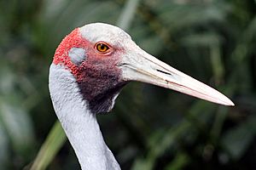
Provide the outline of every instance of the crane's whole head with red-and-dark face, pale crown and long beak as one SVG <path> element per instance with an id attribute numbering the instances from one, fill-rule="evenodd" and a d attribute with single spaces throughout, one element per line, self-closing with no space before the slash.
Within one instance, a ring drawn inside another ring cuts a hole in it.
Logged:
<path id="1" fill-rule="evenodd" d="M 93 113 L 110 111 L 121 88 L 131 81 L 234 105 L 224 94 L 146 53 L 125 31 L 108 24 L 76 28 L 56 49 L 53 64 L 73 74 Z"/>

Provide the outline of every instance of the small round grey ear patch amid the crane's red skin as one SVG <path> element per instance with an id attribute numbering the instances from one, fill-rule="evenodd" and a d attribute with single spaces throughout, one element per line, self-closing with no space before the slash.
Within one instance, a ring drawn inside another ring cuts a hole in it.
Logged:
<path id="1" fill-rule="evenodd" d="M 86 59 L 84 48 L 71 48 L 68 56 L 75 65 L 80 65 Z"/>

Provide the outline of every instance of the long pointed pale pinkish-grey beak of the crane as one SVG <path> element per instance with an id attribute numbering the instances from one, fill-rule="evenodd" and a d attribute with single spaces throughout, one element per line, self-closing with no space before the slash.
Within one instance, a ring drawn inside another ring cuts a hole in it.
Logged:
<path id="1" fill-rule="evenodd" d="M 221 105 L 234 105 L 224 94 L 154 58 L 136 44 L 131 49 L 119 65 L 126 81 L 147 82 Z"/>

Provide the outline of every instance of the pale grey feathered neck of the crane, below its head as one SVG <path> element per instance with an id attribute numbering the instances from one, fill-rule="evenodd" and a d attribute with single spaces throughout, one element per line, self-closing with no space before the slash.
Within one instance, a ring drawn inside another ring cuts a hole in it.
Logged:
<path id="1" fill-rule="evenodd" d="M 105 144 L 96 115 L 88 109 L 73 75 L 61 65 L 50 66 L 49 91 L 82 169 L 120 169 Z"/>

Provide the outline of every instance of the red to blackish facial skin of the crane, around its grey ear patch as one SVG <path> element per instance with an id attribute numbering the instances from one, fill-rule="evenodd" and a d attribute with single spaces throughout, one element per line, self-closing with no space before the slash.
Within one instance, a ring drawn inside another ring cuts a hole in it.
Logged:
<path id="1" fill-rule="evenodd" d="M 86 58 L 80 65 L 73 64 L 68 57 L 71 48 L 84 48 Z M 73 73 L 92 113 L 108 112 L 113 105 L 113 97 L 126 84 L 116 66 L 123 53 L 123 49 L 116 47 L 110 47 L 107 54 L 99 53 L 95 44 L 81 37 L 77 28 L 62 40 L 55 51 L 53 63 L 64 65 Z"/>

